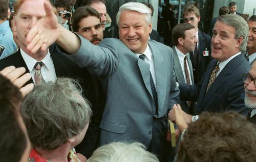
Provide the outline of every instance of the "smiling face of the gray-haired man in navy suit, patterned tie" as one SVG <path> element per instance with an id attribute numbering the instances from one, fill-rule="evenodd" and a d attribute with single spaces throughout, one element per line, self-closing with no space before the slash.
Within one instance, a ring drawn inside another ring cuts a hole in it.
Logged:
<path id="1" fill-rule="evenodd" d="M 222 62 L 237 54 L 240 50 L 239 47 L 243 41 L 240 37 L 235 39 L 236 29 L 217 21 L 214 29 L 212 30 L 211 38 L 211 57 Z"/>

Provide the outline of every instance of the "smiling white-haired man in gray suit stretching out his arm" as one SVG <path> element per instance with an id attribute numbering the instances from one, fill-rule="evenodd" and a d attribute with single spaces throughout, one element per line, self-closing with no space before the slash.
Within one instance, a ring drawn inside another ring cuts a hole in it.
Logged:
<path id="1" fill-rule="evenodd" d="M 179 102 L 179 89 L 172 49 L 148 40 L 150 10 L 141 3 L 122 5 L 117 14 L 120 39 L 106 38 L 97 46 L 59 26 L 47 1 L 44 6 L 46 16 L 28 33 L 27 49 L 33 53 L 56 40 L 59 50 L 100 76 L 106 103 L 99 145 L 138 141 L 161 161 L 166 115 Z"/>

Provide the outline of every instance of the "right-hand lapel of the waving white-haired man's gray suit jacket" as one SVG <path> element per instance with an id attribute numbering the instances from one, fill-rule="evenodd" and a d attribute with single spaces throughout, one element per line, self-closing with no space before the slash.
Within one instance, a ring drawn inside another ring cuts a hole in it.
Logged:
<path id="1" fill-rule="evenodd" d="M 151 41 L 148 41 L 150 48 L 153 52 L 153 58 L 155 63 L 155 74 L 156 74 L 156 82 L 157 82 L 157 98 L 158 98 L 158 110 L 162 111 L 164 99 L 166 95 L 166 86 L 167 86 L 167 78 L 166 74 L 169 69 L 163 68 L 163 56 L 158 50 L 158 47 Z"/>

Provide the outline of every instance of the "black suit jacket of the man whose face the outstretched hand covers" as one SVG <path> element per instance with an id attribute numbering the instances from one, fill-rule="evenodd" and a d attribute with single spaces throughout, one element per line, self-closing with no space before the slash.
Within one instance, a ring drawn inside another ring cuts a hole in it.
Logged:
<path id="1" fill-rule="evenodd" d="M 95 76 L 90 76 L 87 70 L 80 68 L 68 57 L 57 53 L 55 44 L 49 49 L 56 76 L 76 79 L 84 90 L 84 97 L 86 97 L 92 104 L 93 117 L 91 123 L 89 124 L 84 140 L 76 148 L 77 152 L 82 153 L 89 158 L 98 145 L 99 123 L 101 120 L 102 108 L 104 106 L 101 86 L 98 84 L 98 79 L 95 78 Z M 20 50 L 9 57 L 0 60 L 0 71 L 11 65 L 14 65 L 15 67 L 25 67 L 26 73 L 29 73 L 28 67 L 20 54 Z M 28 83 L 33 83 L 33 80 L 30 79 L 26 84 Z"/>

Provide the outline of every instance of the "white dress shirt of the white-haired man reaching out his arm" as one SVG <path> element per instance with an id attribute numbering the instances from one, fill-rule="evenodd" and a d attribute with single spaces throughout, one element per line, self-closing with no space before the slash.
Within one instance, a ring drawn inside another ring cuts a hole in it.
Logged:
<path id="1" fill-rule="evenodd" d="M 136 54 L 136 53 L 135 53 Z M 144 55 L 146 55 L 145 57 L 145 62 L 149 63 L 150 64 L 150 72 L 151 72 L 151 75 L 152 75 L 152 78 L 153 78 L 153 81 L 155 83 L 155 87 L 157 89 L 157 82 L 156 82 L 156 73 L 155 73 L 155 63 L 154 63 L 154 57 L 153 57 L 153 54 L 152 54 L 152 50 L 150 49 L 150 47 L 148 46 L 147 44 L 147 47 L 146 47 L 146 50 L 142 53 Z M 136 56 L 140 56 L 140 54 L 136 54 Z"/>

